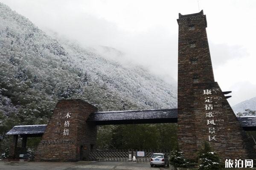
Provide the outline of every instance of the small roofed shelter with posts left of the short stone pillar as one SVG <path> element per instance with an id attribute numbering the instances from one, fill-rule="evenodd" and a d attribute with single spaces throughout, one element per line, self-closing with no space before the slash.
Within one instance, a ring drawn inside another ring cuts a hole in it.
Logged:
<path id="1" fill-rule="evenodd" d="M 6 135 L 13 135 L 9 156 L 13 159 L 19 159 L 20 154 L 26 154 L 27 138 L 43 136 L 46 127 L 47 125 L 21 125 L 12 127 L 12 129 L 6 133 Z M 19 135 L 22 138 L 21 147 L 17 147 Z"/>

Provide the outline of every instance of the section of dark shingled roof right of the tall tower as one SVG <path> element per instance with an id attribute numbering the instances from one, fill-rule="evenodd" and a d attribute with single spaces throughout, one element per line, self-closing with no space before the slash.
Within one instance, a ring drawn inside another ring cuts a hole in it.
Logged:
<path id="1" fill-rule="evenodd" d="M 256 116 L 241 116 L 237 119 L 244 130 L 256 130 Z"/>

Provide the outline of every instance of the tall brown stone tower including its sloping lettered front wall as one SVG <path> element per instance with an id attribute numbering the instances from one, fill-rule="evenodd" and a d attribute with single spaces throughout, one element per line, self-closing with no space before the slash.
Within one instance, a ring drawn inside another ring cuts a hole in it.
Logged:
<path id="1" fill-rule="evenodd" d="M 214 80 L 203 10 L 177 19 L 178 145 L 195 159 L 204 142 L 223 158 L 248 158 L 242 130 Z"/>

